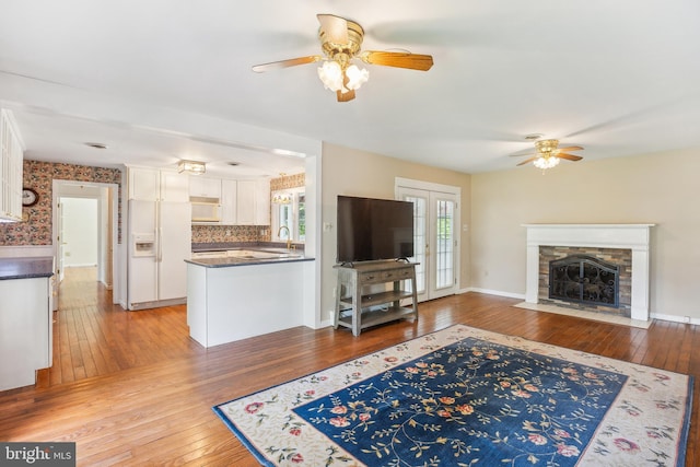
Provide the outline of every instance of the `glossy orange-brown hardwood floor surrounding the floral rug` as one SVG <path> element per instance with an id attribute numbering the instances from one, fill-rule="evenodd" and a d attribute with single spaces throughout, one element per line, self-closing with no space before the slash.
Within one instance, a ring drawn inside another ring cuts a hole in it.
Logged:
<path id="1" fill-rule="evenodd" d="M 94 270 L 69 272 L 54 324 L 54 366 L 40 372 L 37 387 L 0 393 L 0 440 L 77 442 L 79 466 L 258 465 L 212 406 L 456 323 L 700 375 L 700 327 L 630 328 L 478 293 L 422 303 L 418 323 L 357 338 L 299 327 L 203 349 L 188 337 L 185 306 L 125 312 L 110 304 Z M 697 401 L 698 384 L 693 389 Z M 700 465 L 698 421 L 696 402 L 687 466 Z"/>

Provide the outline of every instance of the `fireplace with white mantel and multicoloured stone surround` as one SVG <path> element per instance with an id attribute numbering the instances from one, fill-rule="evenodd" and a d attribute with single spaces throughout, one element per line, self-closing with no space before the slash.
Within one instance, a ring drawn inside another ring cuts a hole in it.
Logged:
<path id="1" fill-rule="evenodd" d="M 653 224 L 527 224 L 527 277 L 525 301 L 547 303 L 550 299 L 549 262 L 569 256 L 593 257 L 605 268 L 618 268 L 617 304 L 587 301 L 585 308 L 649 320 L 650 230 Z M 549 257 L 548 257 L 549 255 Z M 542 261 L 542 257 L 546 261 Z M 587 262 L 590 264 L 590 262 Z M 558 262 L 558 265 L 561 265 Z M 575 267 L 573 267 L 575 269 Z M 605 270 L 604 268 L 604 270 Z M 581 269 L 581 265 L 579 266 Z M 585 269 L 585 266 L 584 266 Z M 603 275 L 609 279 L 607 272 Z M 597 277 L 597 276 L 596 276 Z M 586 283 L 583 279 L 572 279 Z M 588 278 L 590 282 L 591 278 Z M 603 280 L 603 279 L 600 279 Z M 599 283 L 598 283 L 599 285 Z M 562 283 L 556 284 L 561 292 Z M 570 293 L 574 285 L 570 283 Z M 590 288 L 595 295 L 596 288 Z M 598 293 L 598 299 L 600 293 Z M 567 300 L 572 303 L 573 301 Z M 581 303 L 581 302 L 573 302 Z M 616 307 L 617 306 L 617 307 Z"/>

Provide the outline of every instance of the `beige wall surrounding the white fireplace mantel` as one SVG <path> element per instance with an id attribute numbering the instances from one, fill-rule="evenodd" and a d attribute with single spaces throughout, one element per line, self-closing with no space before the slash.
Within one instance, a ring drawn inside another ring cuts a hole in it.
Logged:
<path id="1" fill-rule="evenodd" d="M 525 293 L 527 223 L 655 223 L 651 313 L 700 318 L 700 151 L 471 176 L 471 287 Z"/>

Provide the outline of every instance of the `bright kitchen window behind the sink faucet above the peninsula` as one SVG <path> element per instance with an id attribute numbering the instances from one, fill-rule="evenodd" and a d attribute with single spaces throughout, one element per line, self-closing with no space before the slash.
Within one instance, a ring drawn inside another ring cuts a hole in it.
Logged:
<path id="1" fill-rule="evenodd" d="M 303 243 L 306 238 L 304 187 L 272 192 L 272 241 Z M 289 236 L 287 229 L 289 229 Z"/>

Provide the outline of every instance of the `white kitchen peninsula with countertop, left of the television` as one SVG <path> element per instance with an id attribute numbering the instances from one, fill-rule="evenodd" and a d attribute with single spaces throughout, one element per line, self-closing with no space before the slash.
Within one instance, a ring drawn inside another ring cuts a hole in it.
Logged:
<path id="1" fill-rule="evenodd" d="M 187 325 L 203 347 L 302 326 L 314 258 L 288 248 L 236 248 L 187 262 Z"/>

